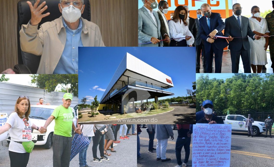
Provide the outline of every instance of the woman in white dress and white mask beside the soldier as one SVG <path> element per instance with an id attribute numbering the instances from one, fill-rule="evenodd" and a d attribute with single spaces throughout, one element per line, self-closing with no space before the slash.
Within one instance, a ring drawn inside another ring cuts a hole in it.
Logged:
<path id="1" fill-rule="evenodd" d="M 250 28 L 256 35 L 269 36 L 269 30 L 265 18 L 260 16 L 260 9 L 258 6 L 251 8 L 251 17 L 249 18 Z M 268 46 L 269 37 L 264 37 L 259 40 L 252 40 L 250 43 L 250 63 L 253 73 L 261 73 L 262 66 L 267 64 L 266 49 Z"/>

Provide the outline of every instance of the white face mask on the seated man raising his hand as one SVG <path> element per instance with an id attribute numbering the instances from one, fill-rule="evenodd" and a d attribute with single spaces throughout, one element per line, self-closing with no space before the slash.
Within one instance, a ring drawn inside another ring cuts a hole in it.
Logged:
<path id="1" fill-rule="evenodd" d="M 83 9 L 83 6 L 82 6 L 82 9 Z M 62 6 L 61 6 L 61 8 L 62 8 Z M 62 8 L 62 16 L 66 21 L 72 23 L 72 22 L 77 21 L 81 17 L 81 15 L 82 15 L 81 10 L 74 7 L 73 5 L 70 5 L 68 7 L 64 7 L 64 9 Z"/>

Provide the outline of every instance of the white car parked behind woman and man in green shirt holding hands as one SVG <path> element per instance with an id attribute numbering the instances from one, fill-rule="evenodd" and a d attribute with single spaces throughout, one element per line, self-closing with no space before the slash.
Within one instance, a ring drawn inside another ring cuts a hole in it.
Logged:
<path id="1" fill-rule="evenodd" d="M 55 105 L 32 105 L 30 106 L 30 115 L 29 118 L 32 123 L 36 126 L 44 126 L 46 120 L 52 114 L 53 110 L 58 107 Z M 75 106 L 76 107 L 76 106 Z M 77 105 L 78 108 L 78 105 Z M 76 115 L 76 111 L 71 107 L 74 117 L 78 117 Z M 76 120 L 76 118 L 74 118 Z M 35 145 L 44 145 L 46 149 L 50 149 L 52 146 L 52 137 L 54 132 L 55 120 L 53 120 L 47 127 L 47 132 L 41 134 L 36 129 L 32 129 L 32 141 Z M 7 139 L 8 143 L 10 139 Z"/>

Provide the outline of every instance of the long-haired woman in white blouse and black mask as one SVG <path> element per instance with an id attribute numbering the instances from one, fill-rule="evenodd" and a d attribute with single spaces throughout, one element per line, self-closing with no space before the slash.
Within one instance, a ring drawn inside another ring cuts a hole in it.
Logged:
<path id="1" fill-rule="evenodd" d="M 173 18 L 169 21 L 170 40 L 169 46 L 192 46 L 194 37 L 187 27 L 187 10 L 183 6 L 176 7 Z M 182 38 L 187 37 L 187 38 Z"/>

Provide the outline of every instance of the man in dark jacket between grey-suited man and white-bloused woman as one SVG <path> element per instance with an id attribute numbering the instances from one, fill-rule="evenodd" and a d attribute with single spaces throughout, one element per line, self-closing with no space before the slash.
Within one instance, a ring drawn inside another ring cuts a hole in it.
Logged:
<path id="1" fill-rule="evenodd" d="M 169 4 L 167 3 L 167 1 L 160 1 L 158 4 L 158 16 L 159 16 L 159 20 L 161 23 L 161 35 L 162 35 L 162 39 L 169 39 L 169 24 L 167 22 L 167 18 L 165 18 L 164 14 L 167 14 L 169 9 Z M 170 40 L 164 41 L 163 44 L 164 46 L 169 46 Z"/>

